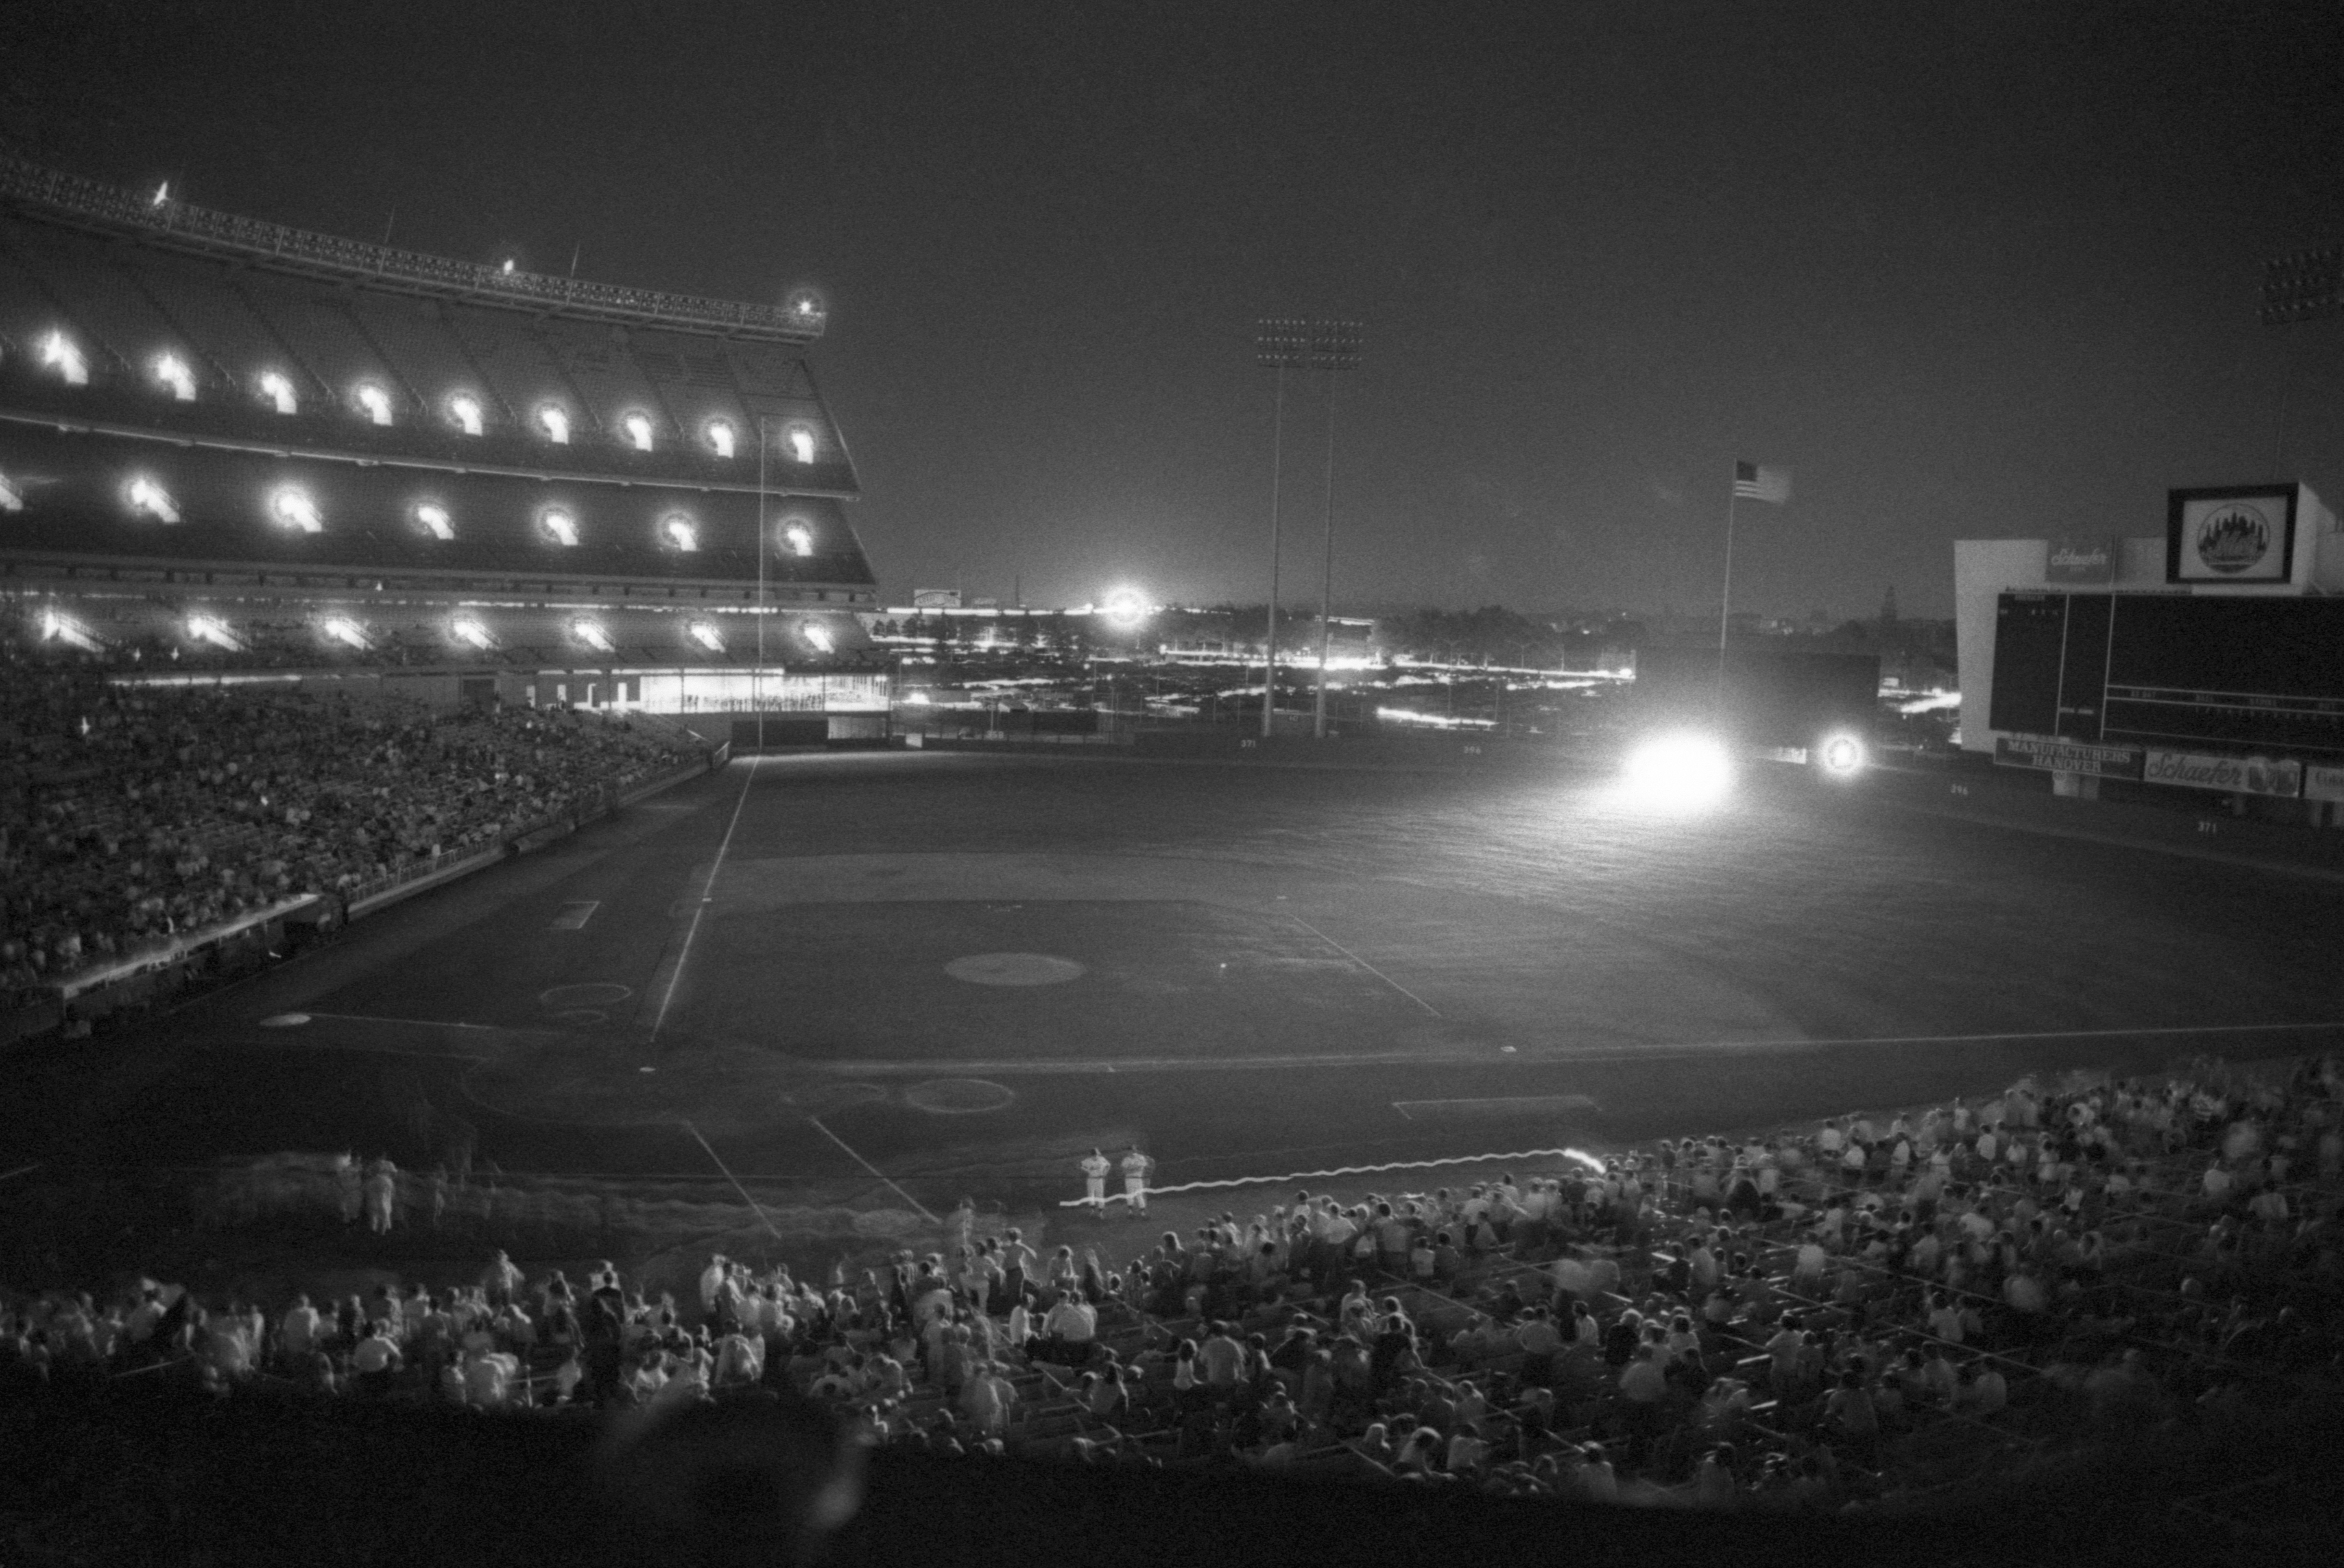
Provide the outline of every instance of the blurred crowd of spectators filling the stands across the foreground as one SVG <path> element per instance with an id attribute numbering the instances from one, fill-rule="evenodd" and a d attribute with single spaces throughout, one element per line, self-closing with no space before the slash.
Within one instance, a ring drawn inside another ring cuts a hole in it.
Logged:
<path id="1" fill-rule="evenodd" d="M 349 1223 L 394 1202 L 422 1223 L 389 1165 L 342 1188 Z M 1821 1509 L 2344 1392 L 2339 1195 L 2335 1059 L 2271 1085 L 2206 1064 L 1296 1193 L 1120 1268 L 973 1235 L 963 1207 L 924 1259 L 816 1282 L 715 1256 L 682 1301 L 502 1252 L 473 1280 L 270 1310 L 155 1280 L 52 1291 L 5 1303 L 0 1362 L 481 1409 L 788 1385 L 938 1453 Z"/>

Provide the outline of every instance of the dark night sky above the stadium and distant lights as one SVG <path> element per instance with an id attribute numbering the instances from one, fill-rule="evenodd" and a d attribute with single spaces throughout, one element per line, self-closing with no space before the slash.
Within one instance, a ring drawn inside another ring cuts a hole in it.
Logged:
<path id="1" fill-rule="evenodd" d="M 2332 5 L 120 5 L 0 21 L 49 162 L 832 307 L 888 598 L 1261 600 L 1261 314 L 1357 314 L 1336 598 L 1950 614 L 1957 537 L 2344 502 Z M 2285 391 L 2283 391 L 2285 389 Z M 2285 422 L 2281 408 L 2285 403 Z M 1315 595 L 1324 401 L 1287 422 Z M 2281 429 L 2283 424 L 2283 429 Z M 2281 457 L 2281 441 L 2283 457 Z"/>

